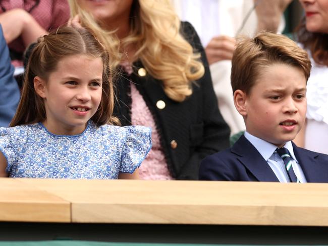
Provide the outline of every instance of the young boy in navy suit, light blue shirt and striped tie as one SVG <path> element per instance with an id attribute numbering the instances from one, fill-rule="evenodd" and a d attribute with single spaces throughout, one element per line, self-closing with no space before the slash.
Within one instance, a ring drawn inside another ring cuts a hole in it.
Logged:
<path id="1" fill-rule="evenodd" d="M 328 182 L 328 155 L 291 142 L 305 122 L 310 70 L 307 53 L 283 35 L 244 38 L 233 54 L 231 85 L 246 132 L 205 158 L 199 179 Z"/>

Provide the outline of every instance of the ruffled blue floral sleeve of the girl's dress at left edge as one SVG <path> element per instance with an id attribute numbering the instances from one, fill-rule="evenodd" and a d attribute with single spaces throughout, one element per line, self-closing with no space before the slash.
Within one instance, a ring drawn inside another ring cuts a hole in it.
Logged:
<path id="1" fill-rule="evenodd" d="M 10 130 L 11 128 L 0 128 L 0 151 L 7 159 L 7 172 L 9 172 L 16 160 L 16 152 L 12 144 L 12 133 Z"/>

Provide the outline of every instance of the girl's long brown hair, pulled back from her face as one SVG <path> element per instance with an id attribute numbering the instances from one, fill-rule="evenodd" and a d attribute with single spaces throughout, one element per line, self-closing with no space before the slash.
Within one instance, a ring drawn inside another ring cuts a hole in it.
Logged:
<path id="1" fill-rule="evenodd" d="M 49 74 L 56 71 L 59 60 L 69 55 L 85 54 L 100 57 L 103 63 L 102 95 L 99 107 L 91 120 L 97 125 L 117 123 L 112 116 L 114 108 L 114 89 L 108 66 L 108 53 L 86 29 L 61 27 L 38 38 L 28 59 L 24 75 L 22 97 L 10 127 L 34 124 L 46 118 L 43 99 L 35 92 L 34 77 L 47 81 Z"/>

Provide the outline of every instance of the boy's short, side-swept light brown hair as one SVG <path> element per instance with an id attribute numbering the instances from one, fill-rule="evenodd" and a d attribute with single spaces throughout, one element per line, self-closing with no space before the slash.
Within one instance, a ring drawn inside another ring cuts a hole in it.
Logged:
<path id="1" fill-rule="evenodd" d="M 261 69 L 279 63 L 295 66 L 310 76 L 311 61 L 305 50 L 288 37 L 271 32 L 259 32 L 254 38 L 244 37 L 237 43 L 232 57 L 231 86 L 233 92 L 248 94 Z"/>

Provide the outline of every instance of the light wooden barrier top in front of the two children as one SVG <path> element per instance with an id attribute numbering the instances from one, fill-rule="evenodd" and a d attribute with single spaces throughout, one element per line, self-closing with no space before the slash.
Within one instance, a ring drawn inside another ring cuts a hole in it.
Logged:
<path id="1" fill-rule="evenodd" d="M 2 221 L 328 226 L 325 183 L 0 178 L 0 186 Z"/>

